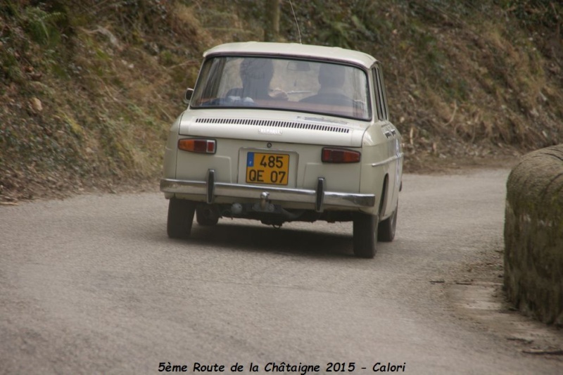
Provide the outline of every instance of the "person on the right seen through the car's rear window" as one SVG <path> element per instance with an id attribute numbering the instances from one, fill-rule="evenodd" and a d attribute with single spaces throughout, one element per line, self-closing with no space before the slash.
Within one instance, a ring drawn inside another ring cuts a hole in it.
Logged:
<path id="1" fill-rule="evenodd" d="M 344 94 L 346 71 L 341 65 L 322 64 L 319 69 L 321 85 L 316 95 L 301 99 L 301 103 L 327 104 L 330 106 L 350 106 L 353 101 Z"/>

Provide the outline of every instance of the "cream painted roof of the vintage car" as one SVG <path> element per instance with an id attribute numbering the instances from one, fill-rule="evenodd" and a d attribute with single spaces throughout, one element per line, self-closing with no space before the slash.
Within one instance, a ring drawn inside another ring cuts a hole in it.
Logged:
<path id="1" fill-rule="evenodd" d="M 239 42 L 215 46 L 203 53 L 204 57 L 215 54 L 293 56 L 301 58 L 320 58 L 322 60 L 354 63 L 371 68 L 377 61 L 367 53 L 340 47 L 312 46 L 298 43 Z"/>

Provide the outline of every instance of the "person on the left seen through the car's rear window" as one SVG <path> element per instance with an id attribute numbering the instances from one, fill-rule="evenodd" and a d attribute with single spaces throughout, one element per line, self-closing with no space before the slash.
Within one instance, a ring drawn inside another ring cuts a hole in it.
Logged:
<path id="1" fill-rule="evenodd" d="M 228 96 L 253 99 L 287 100 L 287 94 L 273 90 L 270 94 L 270 81 L 274 76 L 274 64 L 269 58 L 244 58 L 241 62 L 240 75 L 242 87 L 230 89 Z"/>

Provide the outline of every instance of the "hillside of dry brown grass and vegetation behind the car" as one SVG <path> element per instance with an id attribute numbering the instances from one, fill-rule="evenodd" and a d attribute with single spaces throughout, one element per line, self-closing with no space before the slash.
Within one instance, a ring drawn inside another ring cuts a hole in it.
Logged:
<path id="1" fill-rule="evenodd" d="M 205 49 L 263 40 L 266 0 L 0 1 L 0 200 L 156 186 Z M 475 5 L 479 4 L 479 5 Z M 299 42 L 291 4 L 279 38 Z M 562 142 L 563 5 L 293 0 L 301 40 L 384 65 L 416 172 Z"/>

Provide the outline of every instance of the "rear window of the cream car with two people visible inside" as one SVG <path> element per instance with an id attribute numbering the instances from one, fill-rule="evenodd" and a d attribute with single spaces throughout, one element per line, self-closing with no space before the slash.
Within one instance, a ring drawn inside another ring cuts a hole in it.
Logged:
<path id="1" fill-rule="evenodd" d="M 214 56 L 201 68 L 191 108 L 293 110 L 369 120 L 367 75 L 353 65 Z"/>

